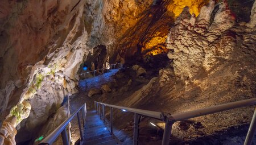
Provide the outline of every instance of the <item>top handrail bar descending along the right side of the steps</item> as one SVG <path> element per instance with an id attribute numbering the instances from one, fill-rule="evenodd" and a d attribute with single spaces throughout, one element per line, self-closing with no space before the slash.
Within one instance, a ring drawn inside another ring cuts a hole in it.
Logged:
<path id="1" fill-rule="evenodd" d="M 135 109 L 135 108 L 131 108 L 131 107 L 123 107 L 123 106 L 117 106 L 117 105 L 110 105 L 108 103 L 102 103 L 102 102 L 97 102 L 96 103 L 100 103 L 101 105 L 105 105 L 105 106 L 109 106 L 109 107 L 113 107 L 116 109 L 120 109 L 120 110 L 126 110 L 132 113 L 137 113 L 137 114 L 141 114 L 147 117 L 152 117 L 152 118 L 156 118 L 156 119 L 164 119 L 164 114 L 161 112 L 157 112 L 157 111 L 149 111 L 149 110 L 143 110 L 143 109 Z"/>

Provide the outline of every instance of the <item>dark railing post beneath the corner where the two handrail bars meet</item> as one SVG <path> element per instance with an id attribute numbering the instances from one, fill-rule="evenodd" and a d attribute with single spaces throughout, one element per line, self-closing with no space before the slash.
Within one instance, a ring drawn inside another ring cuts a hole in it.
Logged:
<path id="1" fill-rule="evenodd" d="M 164 127 L 162 145 L 168 145 L 169 144 L 170 136 L 171 136 L 171 132 L 172 132 L 172 125 L 174 125 L 174 122 L 169 121 L 168 118 L 167 118 L 166 119 L 166 125 Z"/>

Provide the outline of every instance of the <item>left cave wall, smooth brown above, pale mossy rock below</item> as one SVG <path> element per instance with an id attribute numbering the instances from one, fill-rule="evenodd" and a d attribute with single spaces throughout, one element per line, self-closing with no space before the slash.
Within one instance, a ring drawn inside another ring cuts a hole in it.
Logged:
<path id="1" fill-rule="evenodd" d="M 33 130 L 76 92 L 77 65 L 88 52 L 84 3 L 0 2 L 0 144 L 15 144 L 15 127 L 23 119 L 28 117 L 26 127 Z"/>

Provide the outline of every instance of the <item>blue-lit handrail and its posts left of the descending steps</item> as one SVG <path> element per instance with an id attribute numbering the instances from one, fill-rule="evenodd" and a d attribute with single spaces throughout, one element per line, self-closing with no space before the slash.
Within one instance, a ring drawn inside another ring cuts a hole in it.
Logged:
<path id="1" fill-rule="evenodd" d="M 84 110 L 82 110 L 84 109 Z M 79 109 L 77 109 L 69 118 L 67 118 L 63 123 L 61 123 L 61 125 L 59 125 L 54 131 L 51 132 L 51 134 L 49 134 L 48 136 L 46 136 L 46 138 L 44 138 L 39 144 L 52 144 L 53 142 L 55 142 L 55 140 L 57 139 L 57 137 L 61 134 L 63 138 L 63 144 L 69 144 L 68 142 L 68 138 L 67 138 L 67 131 L 65 130 L 65 128 L 68 126 L 68 123 L 72 121 L 72 119 L 75 117 L 75 115 L 77 115 L 77 117 L 79 118 L 79 111 L 82 110 L 82 121 L 84 122 L 85 119 L 85 113 L 86 113 L 86 104 L 82 105 L 81 107 L 79 107 Z M 81 133 L 81 125 L 80 125 L 80 119 L 79 119 L 79 128 L 80 128 L 80 133 Z M 64 134 L 63 135 L 63 131 Z M 80 136 L 82 136 L 80 134 Z"/>

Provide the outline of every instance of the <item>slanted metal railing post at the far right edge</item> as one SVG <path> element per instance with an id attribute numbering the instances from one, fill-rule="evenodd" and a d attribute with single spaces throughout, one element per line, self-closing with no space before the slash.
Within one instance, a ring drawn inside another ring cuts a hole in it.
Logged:
<path id="1" fill-rule="evenodd" d="M 254 109 L 253 118 L 251 119 L 250 127 L 248 129 L 244 145 L 250 145 L 256 131 L 256 107 Z"/>

